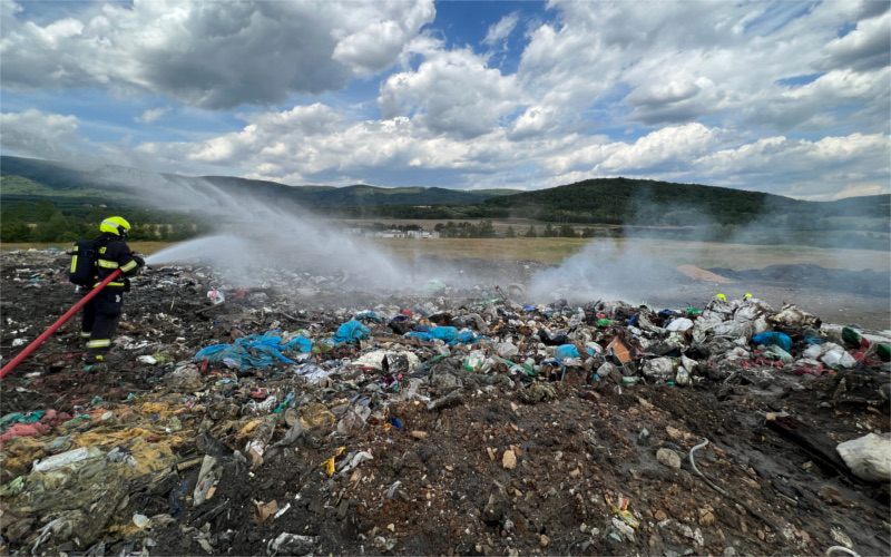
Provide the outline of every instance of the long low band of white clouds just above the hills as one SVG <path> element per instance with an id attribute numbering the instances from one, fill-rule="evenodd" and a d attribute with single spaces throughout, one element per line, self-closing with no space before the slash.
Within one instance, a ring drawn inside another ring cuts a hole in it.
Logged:
<path id="1" fill-rule="evenodd" d="M 503 129 L 473 139 L 431 136 L 404 116 L 350 123 L 322 104 L 243 118 L 239 131 L 204 141 L 140 144 L 129 160 L 144 156 L 174 167 L 195 164 L 202 168 L 195 174 L 241 168 L 236 174 L 294 185 L 395 185 L 396 178 L 439 185 L 444 177 L 449 186 L 540 188 L 634 176 L 822 199 L 839 192 L 888 192 L 891 172 L 888 134 L 744 141 L 719 128 L 687 124 L 654 130 L 633 144 L 578 135 L 518 143 Z M 0 125 L 2 147 L 22 154 L 30 149 L 59 158 L 57 143 L 86 143 L 70 116 L 4 114 Z M 25 138 L 20 129 L 42 129 L 43 136 Z M 108 156 L 120 159 L 106 147 Z"/>

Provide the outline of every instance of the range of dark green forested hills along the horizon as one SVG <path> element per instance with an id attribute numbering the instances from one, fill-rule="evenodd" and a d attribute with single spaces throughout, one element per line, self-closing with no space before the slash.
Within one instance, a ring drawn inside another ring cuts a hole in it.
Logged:
<path id="1" fill-rule="evenodd" d="M 849 227 L 851 223 L 833 219 L 845 217 L 879 219 L 870 224 L 870 229 L 887 232 L 882 224 L 891 215 L 891 195 L 804 202 L 761 192 L 629 178 L 596 178 L 536 192 L 286 186 L 226 176 L 159 175 L 109 165 L 81 170 L 61 163 L 9 156 L 0 157 L 0 175 L 4 206 L 47 199 L 67 215 L 82 213 L 86 205 L 98 203 L 145 206 L 146 189 L 134 187 L 140 183 L 196 189 L 212 184 L 233 195 L 272 203 L 292 201 L 342 217 L 452 221 L 522 217 L 551 223 L 669 226 L 760 222 L 766 226 L 812 229 Z"/>

